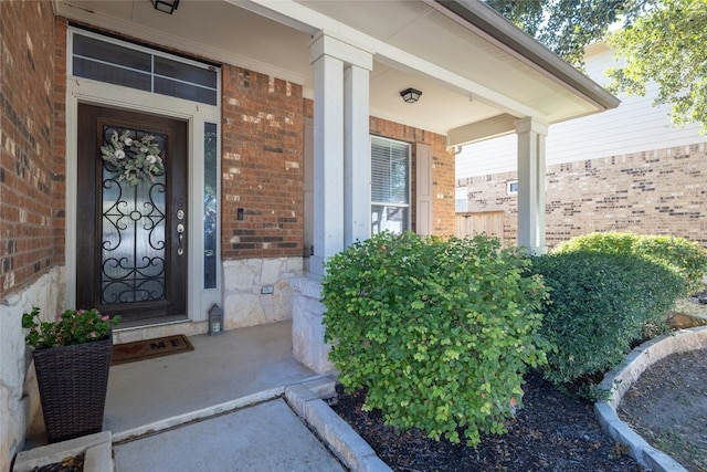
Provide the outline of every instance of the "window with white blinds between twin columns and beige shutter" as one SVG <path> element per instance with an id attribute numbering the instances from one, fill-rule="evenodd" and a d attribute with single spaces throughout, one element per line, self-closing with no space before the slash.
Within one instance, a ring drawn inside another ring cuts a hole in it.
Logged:
<path id="1" fill-rule="evenodd" d="M 371 137 L 371 232 L 410 229 L 410 145 Z"/>

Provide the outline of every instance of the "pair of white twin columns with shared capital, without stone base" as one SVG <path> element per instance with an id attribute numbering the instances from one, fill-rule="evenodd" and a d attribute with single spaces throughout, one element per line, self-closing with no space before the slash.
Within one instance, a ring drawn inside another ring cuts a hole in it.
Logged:
<path id="1" fill-rule="evenodd" d="M 369 75 L 373 56 L 317 34 L 314 64 L 314 255 L 309 271 L 370 237 Z"/>

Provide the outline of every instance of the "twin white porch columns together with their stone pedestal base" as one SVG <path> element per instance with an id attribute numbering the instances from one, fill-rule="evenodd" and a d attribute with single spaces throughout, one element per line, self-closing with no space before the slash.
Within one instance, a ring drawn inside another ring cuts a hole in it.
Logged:
<path id="1" fill-rule="evenodd" d="M 314 64 L 314 255 L 309 276 L 292 282 L 293 354 L 317 373 L 334 368 L 324 342 L 323 264 L 370 235 L 369 73 L 372 54 L 324 33 Z"/>

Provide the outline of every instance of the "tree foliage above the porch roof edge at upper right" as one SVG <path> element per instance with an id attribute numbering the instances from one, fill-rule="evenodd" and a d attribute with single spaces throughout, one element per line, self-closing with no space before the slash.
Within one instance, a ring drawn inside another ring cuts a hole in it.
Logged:
<path id="1" fill-rule="evenodd" d="M 608 75 L 612 93 L 645 95 L 672 106 L 677 126 L 700 123 L 707 132 L 707 1 L 705 0 L 486 0 L 506 19 L 578 69 L 584 49 L 606 39 L 625 65 Z M 623 28 L 610 32 L 610 27 Z"/>

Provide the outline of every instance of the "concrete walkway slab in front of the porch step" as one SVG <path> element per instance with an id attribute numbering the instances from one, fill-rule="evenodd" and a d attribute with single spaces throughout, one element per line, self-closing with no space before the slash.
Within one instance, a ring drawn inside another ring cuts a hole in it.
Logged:
<path id="1" fill-rule="evenodd" d="M 283 399 L 114 444 L 119 472 L 344 471 Z"/>

